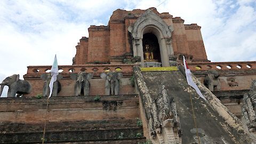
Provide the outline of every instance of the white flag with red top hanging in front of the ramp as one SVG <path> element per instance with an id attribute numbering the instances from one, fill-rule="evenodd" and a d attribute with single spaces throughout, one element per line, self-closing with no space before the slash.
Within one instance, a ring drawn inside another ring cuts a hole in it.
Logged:
<path id="1" fill-rule="evenodd" d="M 184 63 L 184 66 L 185 66 L 185 73 L 186 73 L 186 77 L 187 77 L 187 82 L 188 82 L 188 84 L 189 84 L 190 86 L 192 86 L 192 87 L 196 90 L 197 94 L 198 94 L 201 98 L 203 98 L 205 101 L 207 101 L 207 100 L 204 98 L 204 95 L 203 95 L 203 94 L 201 93 L 201 91 L 198 89 L 198 87 L 197 87 L 197 85 L 195 84 L 195 82 L 193 81 L 192 76 L 191 76 L 191 71 L 190 71 L 190 69 L 188 68 L 188 65 L 187 65 L 187 62 L 186 62 L 186 60 L 185 60 L 184 55 L 183 55 L 183 63 Z"/>

